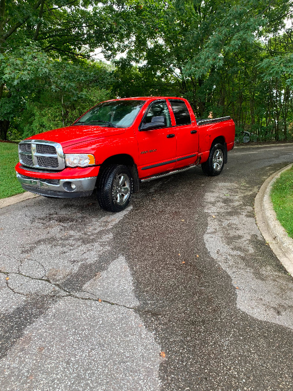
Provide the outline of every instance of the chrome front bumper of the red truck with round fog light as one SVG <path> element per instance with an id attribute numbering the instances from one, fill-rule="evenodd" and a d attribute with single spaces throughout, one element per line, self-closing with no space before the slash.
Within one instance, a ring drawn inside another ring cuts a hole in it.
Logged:
<path id="1" fill-rule="evenodd" d="M 16 173 L 21 186 L 28 192 L 50 197 L 85 197 L 91 195 L 97 181 L 96 176 L 78 179 L 39 179 Z"/>

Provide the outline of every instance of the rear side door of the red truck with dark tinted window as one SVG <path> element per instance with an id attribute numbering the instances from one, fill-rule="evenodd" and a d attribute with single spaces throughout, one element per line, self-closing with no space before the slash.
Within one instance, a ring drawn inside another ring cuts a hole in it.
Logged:
<path id="1" fill-rule="evenodd" d="M 198 156 L 199 136 L 196 123 L 191 122 L 190 112 L 181 99 L 169 99 L 176 122 L 177 150 L 176 168 L 188 166 Z"/>

